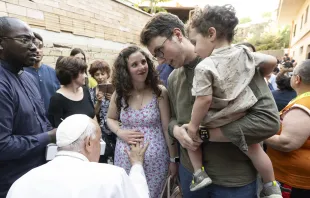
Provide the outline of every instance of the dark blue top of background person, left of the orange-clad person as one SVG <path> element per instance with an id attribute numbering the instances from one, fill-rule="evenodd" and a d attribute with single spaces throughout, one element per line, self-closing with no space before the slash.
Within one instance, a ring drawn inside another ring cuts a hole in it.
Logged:
<path id="1" fill-rule="evenodd" d="M 294 90 L 274 90 L 272 91 L 274 100 L 276 101 L 278 111 L 281 111 L 286 105 L 296 97 Z"/>

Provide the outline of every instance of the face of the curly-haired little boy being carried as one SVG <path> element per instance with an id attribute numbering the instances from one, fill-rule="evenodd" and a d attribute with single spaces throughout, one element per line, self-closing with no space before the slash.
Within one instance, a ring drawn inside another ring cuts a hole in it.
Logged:
<path id="1" fill-rule="evenodd" d="M 190 28 L 189 40 L 195 46 L 195 52 L 201 57 L 209 57 L 214 50 L 214 38 L 212 36 L 203 36 L 196 31 L 196 28 Z"/>

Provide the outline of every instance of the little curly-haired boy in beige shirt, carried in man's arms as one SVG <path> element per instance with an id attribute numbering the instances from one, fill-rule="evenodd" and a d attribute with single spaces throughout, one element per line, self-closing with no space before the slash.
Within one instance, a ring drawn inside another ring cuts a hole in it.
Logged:
<path id="1" fill-rule="evenodd" d="M 189 22 L 188 34 L 196 53 L 204 58 L 195 68 L 192 94 L 196 100 L 188 133 L 194 141 L 201 141 L 199 125 L 218 128 L 244 116 L 257 98 L 249 88 L 255 67 L 276 65 L 276 59 L 251 53 L 245 46 L 231 46 L 238 24 L 232 6 L 206 6 L 196 10 Z M 224 134 L 252 160 L 264 181 L 261 197 L 280 198 L 271 161 L 259 144 L 247 145 L 242 132 Z M 212 183 L 202 167 L 202 151 L 189 151 L 194 167 L 191 191 Z"/>

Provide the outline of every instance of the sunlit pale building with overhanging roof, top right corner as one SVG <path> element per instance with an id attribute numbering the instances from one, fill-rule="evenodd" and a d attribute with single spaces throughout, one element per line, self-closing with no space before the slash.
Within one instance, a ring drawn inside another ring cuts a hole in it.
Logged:
<path id="1" fill-rule="evenodd" d="M 310 59 L 310 0 L 280 0 L 279 25 L 291 25 L 289 54 L 297 63 Z"/>

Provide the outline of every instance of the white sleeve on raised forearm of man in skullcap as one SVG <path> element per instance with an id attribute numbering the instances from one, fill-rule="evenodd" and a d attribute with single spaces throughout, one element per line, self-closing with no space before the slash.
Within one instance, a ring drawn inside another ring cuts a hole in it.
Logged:
<path id="1" fill-rule="evenodd" d="M 142 165 L 136 164 L 131 167 L 129 176 L 123 172 L 122 195 L 126 198 L 149 198 L 149 188 L 147 186 Z"/>

